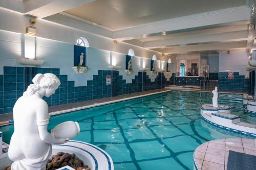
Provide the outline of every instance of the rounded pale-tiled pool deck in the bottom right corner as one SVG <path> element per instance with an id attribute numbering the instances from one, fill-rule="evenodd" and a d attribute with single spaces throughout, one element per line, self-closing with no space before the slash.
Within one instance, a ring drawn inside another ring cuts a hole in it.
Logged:
<path id="1" fill-rule="evenodd" d="M 217 139 L 201 144 L 194 152 L 195 169 L 227 169 L 229 151 L 256 155 L 254 139 Z"/>

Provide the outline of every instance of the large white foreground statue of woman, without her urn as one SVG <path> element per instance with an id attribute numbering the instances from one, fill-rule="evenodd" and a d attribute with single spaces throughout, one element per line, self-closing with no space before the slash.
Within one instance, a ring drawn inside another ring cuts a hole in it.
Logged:
<path id="1" fill-rule="evenodd" d="M 54 94 L 59 79 L 50 73 L 37 74 L 13 108 L 14 133 L 8 156 L 14 161 L 12 170 L 46 169 L 52 154 L 51 143 L 65 143 L 68 138 L 54 138 L 47 131 L 50 115 L 42 97 Z"/>

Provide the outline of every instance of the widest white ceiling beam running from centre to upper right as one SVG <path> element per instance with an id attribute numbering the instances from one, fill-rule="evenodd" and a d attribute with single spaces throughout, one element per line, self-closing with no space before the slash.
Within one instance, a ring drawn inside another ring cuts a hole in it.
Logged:
<path id="1" fill-rule="evenodd" d="M 114 39 L 130 40 L 147 37 L 150 34 L 168 31 L 199 28 L 211 25 L 220 25 L 228 22 L 239 22 L 250 19 L 250 8 L 247 6 L 228 8 L 195 15 L 183 16 L 152 22 L 132 28 L 116 30 Z"/>

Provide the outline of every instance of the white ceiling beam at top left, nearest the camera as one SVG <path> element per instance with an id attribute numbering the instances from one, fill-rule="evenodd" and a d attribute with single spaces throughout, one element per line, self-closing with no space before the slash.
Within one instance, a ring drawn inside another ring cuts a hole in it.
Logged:
<path id="1" fill-rule="evenodd" d="M 33 0 L 25 3 L 25 14 L 44 18 L 93 1 L 95 0 Z"/>

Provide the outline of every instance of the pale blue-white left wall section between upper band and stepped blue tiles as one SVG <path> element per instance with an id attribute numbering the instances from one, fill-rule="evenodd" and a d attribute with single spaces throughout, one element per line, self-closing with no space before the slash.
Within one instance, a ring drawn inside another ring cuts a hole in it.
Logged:
<path id="1" fill-rule="evenodd" d="M 86 74 L 75 74 L 72 69 L 74 63 L 74 44 L 49 40 L 37 37 L 35 40 L 35 58 L 44 60 L 44 64 L 38 67 L 60 68 L 61 75 L 68 75 L 69 81 L 75 81 L 75 86 L 87 85 L 88 80 L 93 79 L 93 75 L 98 74 L 98 70 L 108 70 L 110 65 L 110 51 L 98 50 L 88 47 L 86 53 L 86 65 L 89 67 Z M 0 30 L 0 74 L 4 73 L 4 66 L 22 66 L 16 61 L 17 58 L 24 57 L 24 35 Z M 132 79 L 138 75 L 140 70 L 141 57 L 132 57 L 133 73 L 127 75 L 125 69 L 125 54 L 113 52 L 116 65 L 120 65 L 119 74 L 123 76 L 126 83 L 132 83 Z M 148 68 L 147 75 L 155 81 L 157 75 L 150 74 L 150 59 L 143 58 L 145 67 Z M 166 63 L 164 63 L 164 69 Z M 156 61 L 156 69 L 160 70 L 160 61 Z M 168 78 L 170 74 L 166 75 Z"/>

